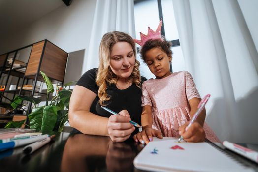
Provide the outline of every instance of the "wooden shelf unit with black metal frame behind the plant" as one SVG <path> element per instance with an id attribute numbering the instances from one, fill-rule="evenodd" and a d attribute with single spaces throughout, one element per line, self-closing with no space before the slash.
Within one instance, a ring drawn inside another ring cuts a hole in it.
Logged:
<path id="1" fill-rule="evenodd" d="M 14 68 L 13 64 L 17 52 L 28 47 L 31 47 L 31 52 L 28 61 L 25 62 L 26 65 Z M 12 59 L 13 62 L 10 65 L 7 63 L 7 59 L 11 54 L 14 55 L 14 57 Z M 2 93 L 4 95 L 12 94 L 13 98 L 15 97 L 15 94 L 28 96 L 46 95 L 46 92 L 36 91 L 37 81 L 44 82 L 40 71 L 44 72 L 51 79 L 52 83 L 58 82 L 61 83 L 61 85 L 63 86 L 67 58 L 68 53 L 66 53 L 64 50 L 60 49 L 47 39 L 0 55 L 0 79 L 2 77 L 6 77 L 6 82 L 0 83 L 0 85 L 5 86 L 5 91 L 3 91 Z M 26 68 L 25 72 L 19 70 L 24 67 Z M 19 78 L 18 82 L 16 83 L 16 88 L 18 88 L 18 86 L 23 88 L 23 86 L 28 83 L 28 80 L 32 80 L 32 82 L 34 83 L 32 86 L 32 90 L 9 90 L 10 84 L 8 84 L 8 80 L 10 76 Z M 22 82 L 20 82 L 20 79 L 22 79 Z M 0 104 L 1 103 L 2 96 L 0 96 Z M 32 105 L 29 104 L 29 110 L 31 109 L 31 106 Z"/>

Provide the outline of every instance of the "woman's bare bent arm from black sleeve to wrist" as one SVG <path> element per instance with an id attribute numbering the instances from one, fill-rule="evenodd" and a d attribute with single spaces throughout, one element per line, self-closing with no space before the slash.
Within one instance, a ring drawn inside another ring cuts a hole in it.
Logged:
<path id="1" fill-rule="evenodd" d="M 70 125 L 84 134 L 109 136 L 108 118 L 90 112 L 96 94 L 83 86 L 75 86 L 69 104 Z"/>

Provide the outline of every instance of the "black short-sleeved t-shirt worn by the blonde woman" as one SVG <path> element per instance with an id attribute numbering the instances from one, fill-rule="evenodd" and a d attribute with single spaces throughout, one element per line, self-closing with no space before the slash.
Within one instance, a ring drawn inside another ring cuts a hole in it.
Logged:
<path id="1" fill-rule="evenodd" d="M 83 86 L 91 91 L 93 91 L 97 95 L 97 91 L 99 87 L 96 84 L 96 75 L 97 75 L 97 68 L 93 68 L 88 70 L 83 74 L 83 76 L 79 79 L 76 85 Z M 146 81 L 145 77 L 141 76 L 141 83 Z M 141 125 L 141 89 L 138 88 L 134 83 L 129 86 L 127 89 L 120 90 L 116 87 L 115 84 L 107 85 L 106 93 L 111 97 L 109 101 L 106 101 L 107 104 L 105 107 L 109 108 L 110 110 L 119 113 L 122 110 L 127 110 L 130 114 L 131 120 L 137 122 Z M 107 112 L 101 105 L 99 104 L 99 97 L 98 95 L 94 99 L 90 112 L 99 116 L 109 117 L 112 115 L 111 113 Z M 137 133 L 138 130 L 136 129 L 133 134 Z"/>

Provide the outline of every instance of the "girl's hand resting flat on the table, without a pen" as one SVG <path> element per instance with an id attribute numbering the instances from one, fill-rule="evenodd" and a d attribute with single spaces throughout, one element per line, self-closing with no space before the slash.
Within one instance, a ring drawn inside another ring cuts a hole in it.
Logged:
<path id="1" fill-rule="evenodd" d="M 133 139 L 135 142 L 140 141 L 140 143 L 142 144 L 148 144 L 150 141 L 153 140 L 153 137 L 163 139 L 161 131 L 155 130 L 150 126 L 145 126 L 143 127 L 142 132 L 137 133 L 133 136 Z"/>

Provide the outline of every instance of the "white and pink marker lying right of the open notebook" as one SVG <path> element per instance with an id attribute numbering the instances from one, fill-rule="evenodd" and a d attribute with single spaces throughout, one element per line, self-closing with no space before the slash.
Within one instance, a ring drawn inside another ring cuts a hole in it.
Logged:
<path id="1" fill-rule="evenodd" d="M 230 149 L 230 150 L 232 150 L 232 151 L 234 151 L 234 152 L 236 152 L 240 155 L 243 155 L 244 157 L 258 163 L 258 152 L 257 151 L 248 149 L 248 148 L 240 146 L 238 144 L 230 143 L 228 141 L 224 141 L 222 144 L 226 148 L 228 148 L 228 149 Z"/>

